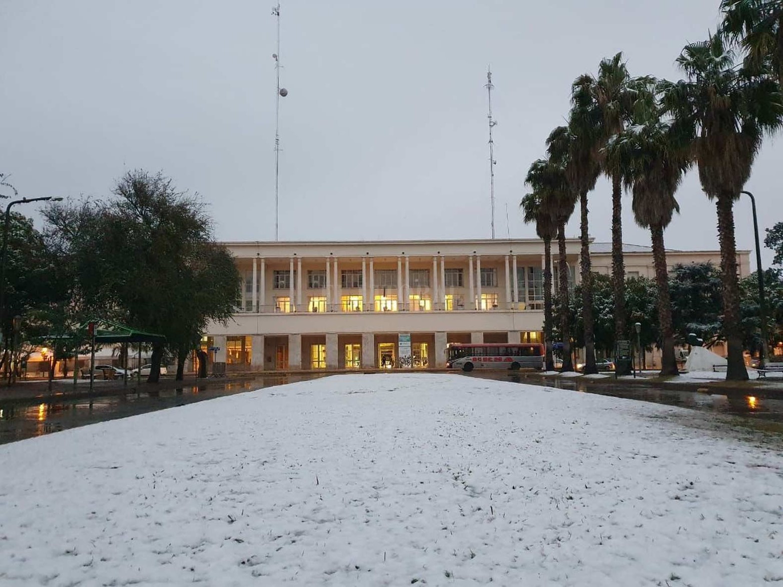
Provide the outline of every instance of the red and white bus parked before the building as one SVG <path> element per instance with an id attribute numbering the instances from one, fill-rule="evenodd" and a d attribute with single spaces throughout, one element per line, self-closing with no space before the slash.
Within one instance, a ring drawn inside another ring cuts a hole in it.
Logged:
<path id="1" fill-rule="evenodd" d="M 462 344 L 446 347 L 449 369 L 543 369 L 544 347 L 539 343 Z"/>

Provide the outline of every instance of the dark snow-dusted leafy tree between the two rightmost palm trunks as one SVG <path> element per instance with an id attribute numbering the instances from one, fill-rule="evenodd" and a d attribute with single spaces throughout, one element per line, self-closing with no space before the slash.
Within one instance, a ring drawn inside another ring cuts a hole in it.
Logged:
<path id="1" fill-rule="evenodd" d="M 677 344 L 687 344 L 690 333 L 702 338 L 707 348 L 721 340 L 722 287 L 720 271 L 712 263 L 674 265 L 669 273 L 669 292 Z"/>

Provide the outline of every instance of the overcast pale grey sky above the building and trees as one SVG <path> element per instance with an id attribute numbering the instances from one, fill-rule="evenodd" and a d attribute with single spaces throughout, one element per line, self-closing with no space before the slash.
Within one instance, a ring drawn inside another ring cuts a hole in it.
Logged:
<path id="1" fill-rule="evenodd" d="M 719 19 L 718 0 L 281 3 L 280 239 L 489 237 L 489 63 L 496 235 L 535 236 L 525 171 L 573 78 L 622 51 L 633 75 L 679 79 L 680 49 Z M 272 4 L 0 0 L 0 171 L 23 196 L 105 197 L 128 169 L 162 170 L 210 205 L 219 239 L 273 239 Z M 746 186 L 763 227 L 781 220 L 780 162 L 767 141 Z M 608 241 L 608 184 L 590 198 Z M 677 198 L 667 246 L 716 249 L 695 171 Z M 648 244 L 624 202 L 624 240 Z M 735 210 L 752 249 L 750 204 Z"/>

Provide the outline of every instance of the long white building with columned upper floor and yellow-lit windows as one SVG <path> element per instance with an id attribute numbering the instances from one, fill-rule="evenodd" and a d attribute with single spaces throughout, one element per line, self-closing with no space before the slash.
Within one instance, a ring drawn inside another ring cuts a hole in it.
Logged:
<path id="1" fill-rule="evenodd" d="M 218 348 L 214 359 L 229 371 L 437 368 L 453 342 L 543 342 L 539 239 L 224 244 L 242 295 L 233 319 L 212 324 L 202 346 Z M 579 240 L 568 239 L 566 251 L 576 281 Z M 556 253 L 553 243 L 555 288 Z M 611 272 L 611 254 L 591 257 L 595 271 Z M 673 252 L 669 263 L 720 260 L 696 257 Z M 652 275 L 649 252 L 634 253 L 632 264 Z"/>

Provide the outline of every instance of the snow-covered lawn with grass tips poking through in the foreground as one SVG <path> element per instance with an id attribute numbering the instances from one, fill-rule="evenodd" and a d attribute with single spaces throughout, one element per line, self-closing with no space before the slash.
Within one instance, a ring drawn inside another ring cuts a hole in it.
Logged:
<path id="1" fill-rule="evenodd" d="M 0 585 L 781 581 L 783 457 L 708 419 L 345 375 L 2 445 Z"/>

